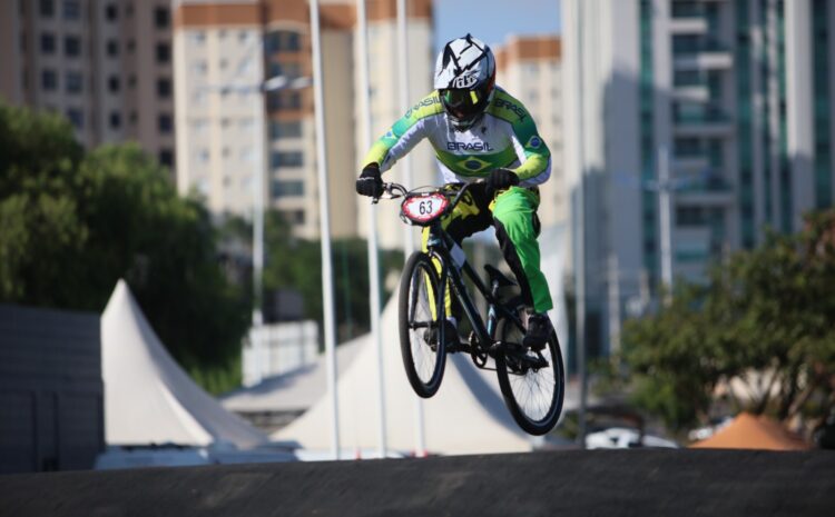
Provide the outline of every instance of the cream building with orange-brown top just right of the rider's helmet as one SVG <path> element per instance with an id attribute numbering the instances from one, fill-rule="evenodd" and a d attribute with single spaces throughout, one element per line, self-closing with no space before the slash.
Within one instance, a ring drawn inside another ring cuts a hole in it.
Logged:
<path id="1" fill-rule="evenodd" d="M 568 195 L 562 173 L 561 41 L 557 36 L 517 36 L 495 49 L 497 84 L 517 97 L 537 121 L 551 150 L 551 178 L 540 188 L 542 226 L 566 223 Z"/>

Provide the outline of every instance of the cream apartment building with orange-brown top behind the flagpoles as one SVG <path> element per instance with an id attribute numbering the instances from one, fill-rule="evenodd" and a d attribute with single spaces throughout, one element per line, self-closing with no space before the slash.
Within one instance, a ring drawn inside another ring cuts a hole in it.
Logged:
<path id="1" fill-rule="evenodd" d="M 395 1 L 367 2 L 367 16 L 372 123 L 373 132 L 382 135 L 404 111 L 393 79 L 396 47 L 390 44 L 396 37 Z M 354 193 L 365 152 L 355 2 L 322 1 L 320 18 L 331 229 L 335 237 L 366 235 L 367 203 Z M 416 49 L 412 71 L 426 91 L 431 23 L 429 0 L 410 2 L 410 43 Z M 308 3 L 180 0 L 175 4 L 174 48 L 180 192 L 196 189 L 216 213 L 248 216 L 256 191 L 253 181 L 264 159 L 265 206 L 284 212 L 296 235 L 317 237 L 321 196 L 313 88 L 294 81 L 313 74 Z M 262 96 L 257 86 L 276 77 L 287 78 L 286 87 Z M 381 216 L 381 225 L 401 225 L 396 211 Z M 381 230 L 385 235 L 394 237 Z M 402 245 L 402 238 L 382 240 L 383 246 Z"/>

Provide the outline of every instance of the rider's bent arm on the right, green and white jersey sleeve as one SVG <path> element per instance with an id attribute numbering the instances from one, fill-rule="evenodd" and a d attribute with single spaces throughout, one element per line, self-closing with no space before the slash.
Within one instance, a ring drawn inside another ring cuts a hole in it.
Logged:
<path id="1" fill-rule="evenodd" d="M 530 187 L 544 183 L 551 176 L 551 151 L 537 131 L 537 123 L 524 106 L 505 91 L 488 109 L 492 115 L 510 122 L 510 139 L 519 158 L 519 167 L 511 169 L 519 176 L 520 185 Z"/>

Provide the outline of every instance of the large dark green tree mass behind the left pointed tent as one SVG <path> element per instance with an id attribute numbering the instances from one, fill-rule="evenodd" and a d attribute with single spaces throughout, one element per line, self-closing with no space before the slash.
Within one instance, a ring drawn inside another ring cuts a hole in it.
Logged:
<path id="1" fill-rule="evenodd" d="M 134 145 L 85 153 L 66 120 L 0 106 L 0 301 L 100 312 L 125 278 L 174 357 L 226 389 L 249 308 L 209 215 L 167 175 Z"/>

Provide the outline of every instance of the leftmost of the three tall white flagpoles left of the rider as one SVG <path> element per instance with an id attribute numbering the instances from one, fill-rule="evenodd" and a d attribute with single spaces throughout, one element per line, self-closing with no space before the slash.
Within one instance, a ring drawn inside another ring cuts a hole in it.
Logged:
<path id="1" fill-rule="evenodd" d="M 327 152 L 325 143 L 325 100 L 322 74 L 322 39 L 318 23 L 318 0 L 311 1 L 313 39 L 313 93 L 316 113 L 316 158 L 318 162 L 318 213 L 322 241 L 322 302 L 325 317 L 325 352 L 327 357 L 327 390 L 331 395 L 331 448 L 340 459 L 340 405 L 336 394 L 336 331 L 333 305 L 333 265 L 331 258 L 331 203 L 327 192 Z"/>

